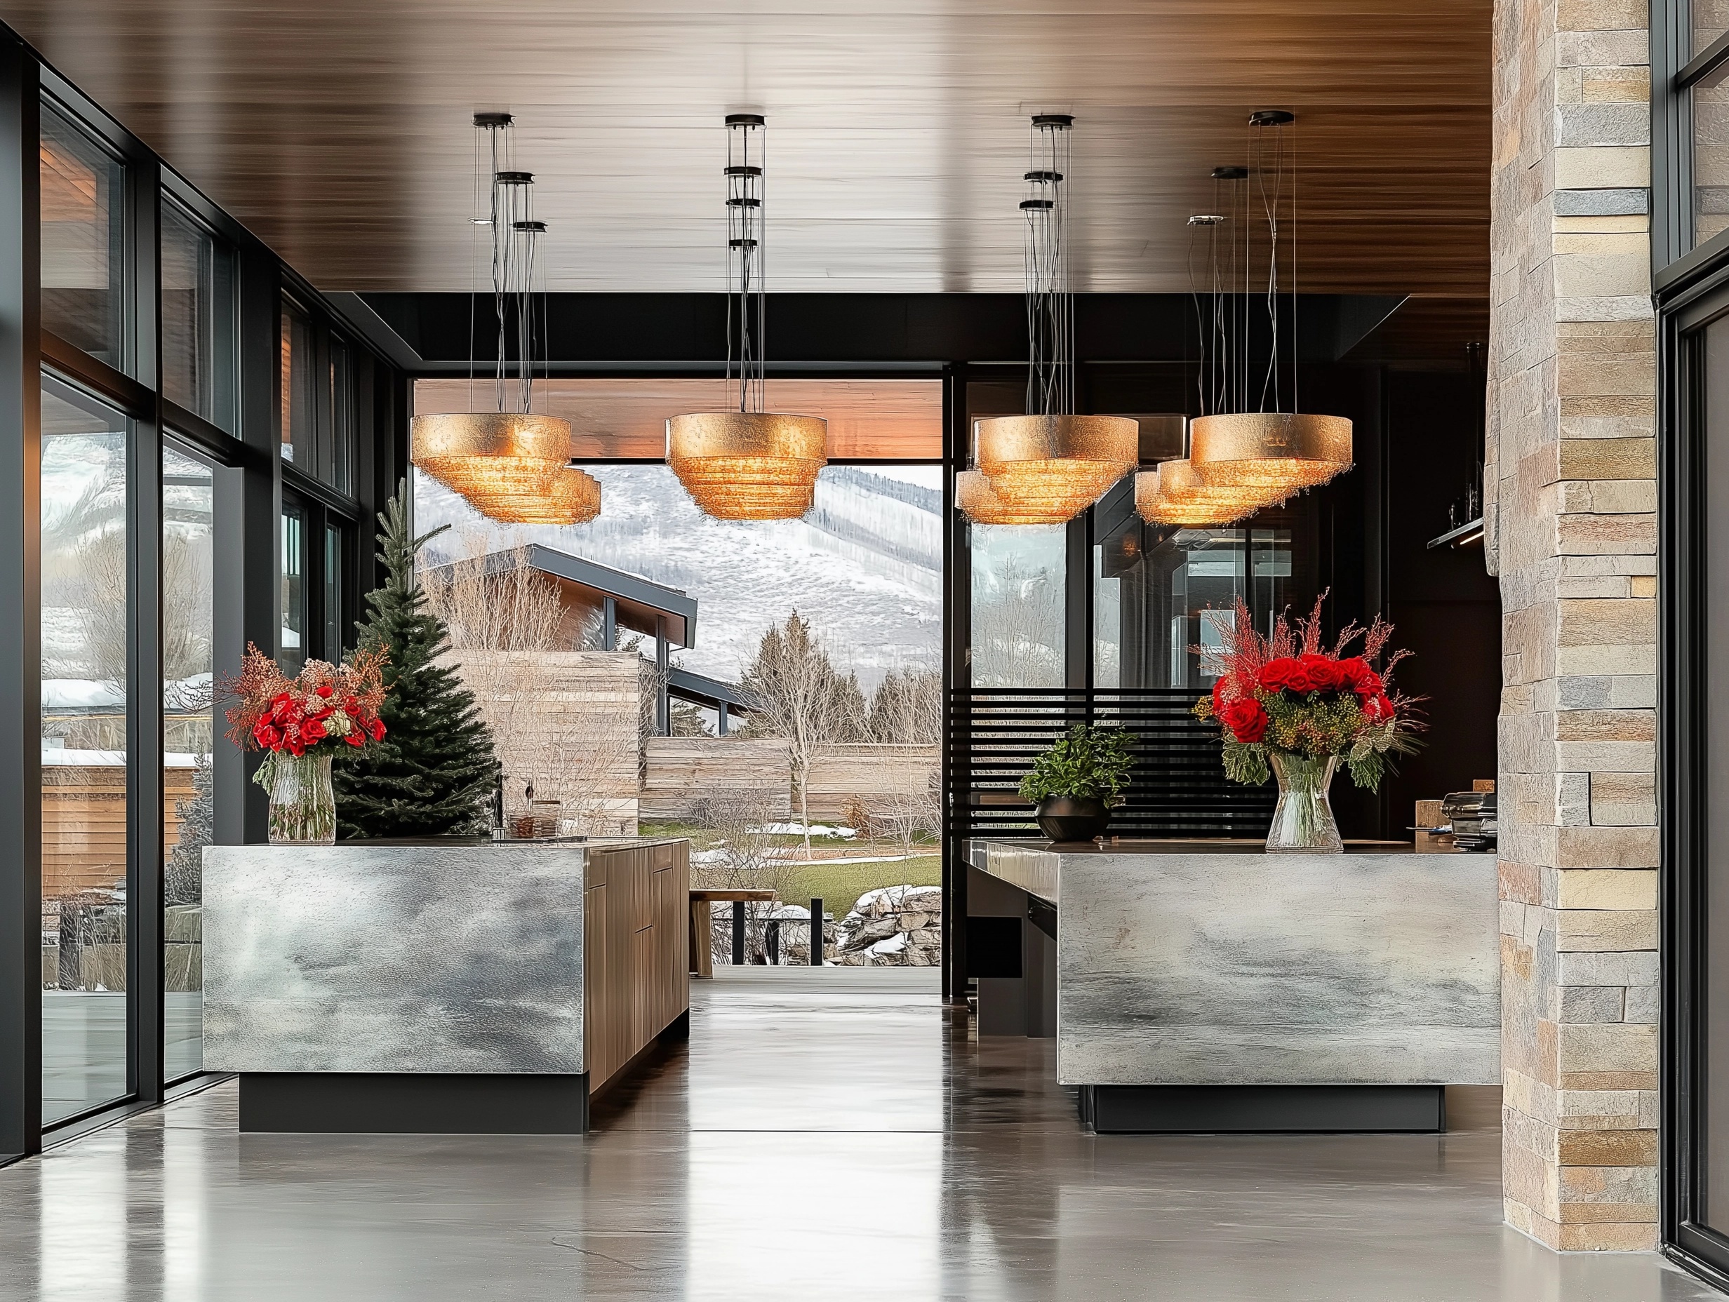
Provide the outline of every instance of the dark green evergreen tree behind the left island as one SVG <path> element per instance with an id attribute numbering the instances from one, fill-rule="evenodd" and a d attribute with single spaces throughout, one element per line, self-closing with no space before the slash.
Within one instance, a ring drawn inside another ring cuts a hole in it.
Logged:
<path id="1" fill-rule="evenodd" d="M 420 548 L 450 526 L 413 538 L 406 495 L 403 481 L 379 515 L 379 558 L 389 578 L 367 593 L 360 624 L 360 645 L 391 657 L 384 669 L 391 692 L 379 711 L 384 740 L 339 754 L 332 771 L 344 839 L 481 833 L 498 785 L 493 733 L 456 669 L 436 662 L 450 650 L 450 633 L 415 583 Z"/>

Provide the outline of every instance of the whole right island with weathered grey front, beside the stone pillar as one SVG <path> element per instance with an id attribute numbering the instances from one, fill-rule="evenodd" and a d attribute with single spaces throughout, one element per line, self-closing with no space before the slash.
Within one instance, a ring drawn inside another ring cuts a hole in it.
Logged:
<path id="1" fill-rule="evenodd" d="M 1022 1018 L 1055 1029 L 1058 1079 L 1098 1129 L 1444 1129 L 1444 1086 L 1501 1081 L 1492 854 L 973 840 L 967 856 L 972 918 L 1025 901 Z"/>

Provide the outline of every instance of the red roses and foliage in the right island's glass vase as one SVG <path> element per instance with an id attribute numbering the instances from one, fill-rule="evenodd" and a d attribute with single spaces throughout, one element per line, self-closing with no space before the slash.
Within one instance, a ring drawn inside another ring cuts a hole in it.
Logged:
<path id="1" fill-rule="evenodd" d="M 1330 650 L 1321 650 L 1321 602 L 1295 624 L 1283 614 L 1273 636 L 1255 633 L 1238 602 L 1235 622 L 1219 624 L 1224 645 L 1205 655 L 1224 664 L 1210 697 L 1195 704 L 1202 719 L 1217 719 L 1224 733 L 1224 771 L 1233 782 L 1259 787 L 1269 764 L 1285 757 L 1342 761 L 1350 780 L 1378 790 L 1388 757 L 1416 749 L 1416 700 L 1392 686 L 1392 671 L 1409 652 L 1376 662 L 1392 638 L 1380 617 L 1369 628 L 1347 624 Z M 1362 648 L 1349 655 L 1362 640 Z M 1196 652 L 1202 648 L 1196 647 Z"/>

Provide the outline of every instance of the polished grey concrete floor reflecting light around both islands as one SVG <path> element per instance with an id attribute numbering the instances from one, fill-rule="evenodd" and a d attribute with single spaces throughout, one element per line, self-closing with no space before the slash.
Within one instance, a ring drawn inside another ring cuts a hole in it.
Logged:
<path id="1" fill-rule="evenodd" d="M 3 1169 L 0 1299 L 1719 1297 L 1506 1229 L 1483 1101 L 1094 1138 L 1051 1043 L 968 1041 L 928 970 L 718 968 L 588 1138 L 242 1138 L 218 1086 Z"/>

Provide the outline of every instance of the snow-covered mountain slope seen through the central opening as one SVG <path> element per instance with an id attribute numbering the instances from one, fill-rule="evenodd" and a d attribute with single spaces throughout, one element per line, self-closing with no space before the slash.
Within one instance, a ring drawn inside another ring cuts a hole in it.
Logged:
<path id="1" fill-rule="evenodd" d="M 451 531 L 434 564 L 470 548 L 543 543 L 681 588 L 699 602 L 686 669 L 737 680 L 762 633 L 792 610 L 811 621 L 866 692 L 889 669 L 935 664 L 942 640 L 942 495 L 937 467 L 826 467 L 802 520 L 712 520 L 664 465 L 588 467 L 600 517 L 579 526 L 500 526 L 415 475 L 415 529 Z"/>

